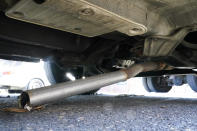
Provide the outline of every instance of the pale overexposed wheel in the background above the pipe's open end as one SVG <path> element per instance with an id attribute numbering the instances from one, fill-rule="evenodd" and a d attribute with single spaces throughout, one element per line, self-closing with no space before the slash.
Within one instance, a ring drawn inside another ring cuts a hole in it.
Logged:
<path id="1" fill-rule="evenodd" d="M 33 90 L 44 86 L 44 82 L 41 79 L 35 78 L 29 81 L 27 85 L 27 90 Z"/>

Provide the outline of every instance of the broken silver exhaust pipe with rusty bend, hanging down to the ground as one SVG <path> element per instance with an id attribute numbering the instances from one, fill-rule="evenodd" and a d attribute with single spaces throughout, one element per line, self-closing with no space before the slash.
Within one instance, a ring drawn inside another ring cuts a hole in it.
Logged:
<path id="1" fill-rule="evenodd" d="M 45 88 L 23 92 L 19 97 L 19 106 L 30 110 L 33 106 L 47 104 L 65 97 L 83 94 L 101 87 L 125 81 L 141 72 L 160 70 L 164 64 L 148 62 L 112 73 L 101 74 L 76 81 L 64 82 Z"/>

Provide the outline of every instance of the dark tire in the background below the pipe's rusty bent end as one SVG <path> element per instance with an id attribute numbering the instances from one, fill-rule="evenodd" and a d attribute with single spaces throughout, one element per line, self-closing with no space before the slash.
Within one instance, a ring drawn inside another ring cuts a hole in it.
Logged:
<path id="1" fill-rule="evenodd" d="M 164 77 L 147 77 L 144 83 L 148 92 L 167 93 L 172 89 Z"/>

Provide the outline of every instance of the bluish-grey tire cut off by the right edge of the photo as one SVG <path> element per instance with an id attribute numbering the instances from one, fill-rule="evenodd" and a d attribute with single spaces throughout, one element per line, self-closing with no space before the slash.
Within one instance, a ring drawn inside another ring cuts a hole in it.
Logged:
<path id="1" fill-rule="evenodd" d="M 197 92 L 197 76 L 195 75 L 187 75 L 186 76 L 187 83 L 191 87 L 191 89 Z"/>

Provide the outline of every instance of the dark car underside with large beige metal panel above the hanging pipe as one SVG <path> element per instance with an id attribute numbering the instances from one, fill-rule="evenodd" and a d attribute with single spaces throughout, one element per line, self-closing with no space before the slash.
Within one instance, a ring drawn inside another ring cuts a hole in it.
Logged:
<path id="1" fill-rule="evenodd" d="M 196 0 L 1 0 L 0 58 L 43 59 L 52 83 L 146 62 L 165 67 L 137 76 L 196 74 L 196 12 Z"/>

